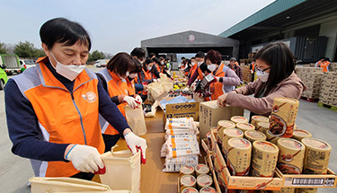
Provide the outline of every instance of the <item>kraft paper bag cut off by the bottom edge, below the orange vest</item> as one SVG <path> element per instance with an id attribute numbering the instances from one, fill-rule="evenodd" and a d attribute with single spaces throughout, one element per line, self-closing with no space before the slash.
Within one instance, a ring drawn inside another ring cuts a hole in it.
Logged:
<path id="1" fill-rule="evenodd" d="M 111 188 L 94 181 L 75 178 L 43 178 L 33 177 L 31 181 L 31 193 L 46 192 L 108 192 Z"/>

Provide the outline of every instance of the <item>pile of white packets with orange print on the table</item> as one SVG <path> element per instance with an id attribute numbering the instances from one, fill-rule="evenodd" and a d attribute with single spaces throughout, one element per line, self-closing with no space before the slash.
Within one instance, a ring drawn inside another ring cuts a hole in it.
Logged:
<path id="1" fill-rule="evenodd" d="M 200 154 L 199 131 L 193 124 L 193 118 L 167 118 L 165 130 L 165 143 L 161 150 L 161 156 L 166 158 L 163 171 L 179 172 L 185 164 L 196 166 Z"/>

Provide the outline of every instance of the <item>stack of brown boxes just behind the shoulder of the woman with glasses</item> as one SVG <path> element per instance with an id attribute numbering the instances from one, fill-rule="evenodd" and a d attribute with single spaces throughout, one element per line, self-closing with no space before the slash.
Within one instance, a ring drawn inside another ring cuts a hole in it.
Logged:
<path id="1" fill-rule="evenodd" d="M 308 87 L 302 93 L 302 97 L 318 99 L 323 79 L 323 69 L 321 67 L 297 67 L 297 76 Z"/>

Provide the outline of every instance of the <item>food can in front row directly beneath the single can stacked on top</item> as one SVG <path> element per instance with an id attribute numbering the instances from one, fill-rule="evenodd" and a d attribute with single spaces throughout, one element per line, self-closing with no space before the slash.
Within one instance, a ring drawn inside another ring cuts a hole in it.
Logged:
<path id="1" fill-rule="evenodd" d="M 305 159 L 306 146 L 296 139 L 281 138 L 278 140 L 278 168 L 284 174 L 301 174 Z"/>

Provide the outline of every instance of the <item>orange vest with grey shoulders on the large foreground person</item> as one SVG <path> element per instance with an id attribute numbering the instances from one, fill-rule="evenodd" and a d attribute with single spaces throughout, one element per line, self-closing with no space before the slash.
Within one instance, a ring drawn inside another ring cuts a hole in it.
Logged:
<path id="1" fill-rule="evenodd" d="M 36 68 L 13 77 L 24 97 L 31 102 L 43 140 L 90 145 L 102 154 L 105 145 L 98 120 L 97 76 L 85 68 L 75 78 L 73 92 L 69 92 L 49 71 L 45 65 L 48 61 L 48 57 L 40 57 Z M 79 172 L 72 162 L 32 160 L 31 166 L 39 177 L 70 177 Z"/>

